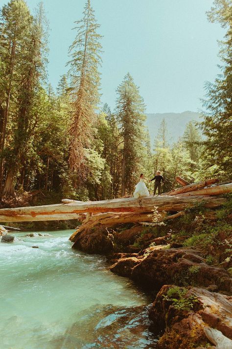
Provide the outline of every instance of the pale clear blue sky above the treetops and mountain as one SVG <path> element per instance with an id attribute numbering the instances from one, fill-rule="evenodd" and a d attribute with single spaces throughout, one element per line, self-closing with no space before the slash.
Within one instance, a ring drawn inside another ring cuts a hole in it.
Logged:
<path id="1" fill-rule="evenodd" d="M 0 0 L 0 5 L 7 1 Z M 27 0 L 33 9 L 38 0 Z M 67 71 L 68 48 L 85 0 L 44 0 L 50 26 L 49 81 Z M 224 29 L 207 20 L 212 0 L 92 0 L 102 46 L 102 102 L 115 106 L 127 72 L 148 113 L 197 111 L 205 81 L 219 73 L 217 40 Z"/>

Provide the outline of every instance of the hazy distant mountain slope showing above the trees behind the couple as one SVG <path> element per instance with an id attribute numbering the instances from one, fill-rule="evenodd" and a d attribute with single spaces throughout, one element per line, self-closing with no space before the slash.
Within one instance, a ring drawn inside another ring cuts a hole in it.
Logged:
<path id="1" fill-rule="evenodd" d="M 149 130 L 152 147 L 163 118 L 167 125 L 167 138 L 169 143 L 176 142 L 179 137 L 184 134 L 186 124 L 189 121 L 201 120 L 200 114 L 193 111 L 184 111 L 183 113 L 146 114 L 146 116 L 147 120 L 145 124 Z"/>

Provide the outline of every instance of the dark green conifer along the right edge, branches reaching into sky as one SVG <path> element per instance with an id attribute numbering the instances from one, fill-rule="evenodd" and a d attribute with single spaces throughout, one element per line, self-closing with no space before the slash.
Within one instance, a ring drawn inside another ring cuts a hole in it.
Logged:
<path id="1" fill-rule="evenodd" d="M 215 0 L 208 13 L 209 21 L 218 22 L 227 29 L 221 42 L 222 73 L 214 83 L 207 83 L 203 106 L 204 121 L 201 123 L 205 141 L 208 167 L 217 166 L 215 173 L 232 176 L 232 1 Z"/>

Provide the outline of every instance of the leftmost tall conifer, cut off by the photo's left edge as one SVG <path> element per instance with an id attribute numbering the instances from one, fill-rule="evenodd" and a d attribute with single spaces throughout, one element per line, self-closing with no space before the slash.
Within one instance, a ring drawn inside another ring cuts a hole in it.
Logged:
<path id="1" fill-rule="evenodd" d="M 23 0 L 11 0 L 0 13 L 0 189 L 9 113 L 14 112 L 17 80 L 32 17 Z"/>

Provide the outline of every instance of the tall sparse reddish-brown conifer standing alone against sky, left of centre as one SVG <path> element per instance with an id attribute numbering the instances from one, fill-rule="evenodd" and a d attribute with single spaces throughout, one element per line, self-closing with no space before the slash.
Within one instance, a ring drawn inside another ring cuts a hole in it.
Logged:
<path id="1" fill-rule="evenodd" d="M 84 16 L 75 22 L 77 35 L 70 46 L 70 79 L 72 98 L 72 118 L 70 126 L 70 169 L 83 183 L 87 174 L 86 149 L 90 148 L 96 120 L 95 109 L 99 102 L 101 63 L 100 27 L 94 17 L 90 0 L 87 0 Z"/>

